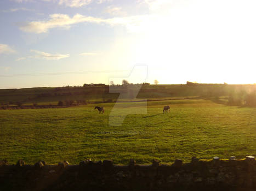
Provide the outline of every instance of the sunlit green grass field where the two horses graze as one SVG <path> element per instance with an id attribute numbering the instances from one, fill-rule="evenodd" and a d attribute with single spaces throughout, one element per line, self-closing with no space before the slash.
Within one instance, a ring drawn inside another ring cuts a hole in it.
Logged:
<path id="1" fill-rule="evenodd" d="M 118 103 L 120 112 L 140 111 L 143 103 Z M 0 110 L 0 159 L 33 164 L 68 160 L 112 159 L 139 164 L 192 156 L 211 159 L 256 155 L 256 109 L 238 108 L 209 100 L 148 102 L 147 114 L 128 115 L 122 126 L 109 126 L 113 103 L 98 114 L 94 105 L 62 109 Z M 170 113 L 162 114 L 164 105 Z M 124 109 L 122 109 L 124 108 Z M 115 114 L 117 115 L 117 114 Z"/>

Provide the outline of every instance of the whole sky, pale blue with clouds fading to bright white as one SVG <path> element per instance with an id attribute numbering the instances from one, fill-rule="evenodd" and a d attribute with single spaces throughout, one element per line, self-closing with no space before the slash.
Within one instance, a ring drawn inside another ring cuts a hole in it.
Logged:
<path id="1" fill-rule="evenodd" d="M 254 0 L 2 0 L 0 88 L 140 83 L 136 65 L 149 83 L 256 83 L 255 9 Z"/>

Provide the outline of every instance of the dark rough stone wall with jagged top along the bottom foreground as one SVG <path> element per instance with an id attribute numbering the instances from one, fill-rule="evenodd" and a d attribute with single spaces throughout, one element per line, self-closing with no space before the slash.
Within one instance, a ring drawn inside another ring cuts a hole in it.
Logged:
<path id="1" fill-rule="evenodd" d="M 254 157 L 236 160 L 176 159 L 172 165 L 113 165 L 111 160 L 84 160 L 79 165 L 0 161 L 0 190 L 256 190 Z"/>

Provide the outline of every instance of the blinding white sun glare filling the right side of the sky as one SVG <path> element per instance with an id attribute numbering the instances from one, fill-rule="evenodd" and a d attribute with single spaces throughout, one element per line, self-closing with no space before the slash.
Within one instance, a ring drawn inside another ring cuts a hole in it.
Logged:
<path id="1" fill-rule="evenodd" d="M 135 61 L 153 68 L 150 81 L 157 76 L 162 83 L 256 82 L 255 11 L 238 2 L 221 5 L 193 1 L 170 7 L 141 26 Z M 161 75 L 167 73 L 171 79 Z"/>

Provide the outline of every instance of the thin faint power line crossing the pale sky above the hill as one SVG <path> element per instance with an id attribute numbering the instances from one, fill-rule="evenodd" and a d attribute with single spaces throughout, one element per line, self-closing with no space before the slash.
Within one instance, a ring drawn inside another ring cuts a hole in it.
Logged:
<path id="1" fill-rule="evenodd" d="M 67 71 L 60 73 L 30 73 L 30 74 L 3 74 L 0 77 L 44 76 L 44 75 L 70 75 L 70 74 L 94 74 L 94 73 L 118 73 L 130 70 L 98 70 L 98 71 Z"/>

